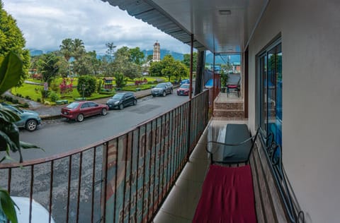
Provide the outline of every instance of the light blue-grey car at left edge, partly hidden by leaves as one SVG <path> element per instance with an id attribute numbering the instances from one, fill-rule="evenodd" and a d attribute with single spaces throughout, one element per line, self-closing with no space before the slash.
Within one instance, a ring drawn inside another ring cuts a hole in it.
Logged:
<path id="1" fill-rule="evenodd" d="M 26 128 L 28 131 L 35 131 L 41 123 L 41 118 L 35 111 L 20 109 L 10 104 L 2 103 L 2 105 L 11 111 L 14 111 L 20 117 L 20 120 L 15 123 L 18 128 Z"/>

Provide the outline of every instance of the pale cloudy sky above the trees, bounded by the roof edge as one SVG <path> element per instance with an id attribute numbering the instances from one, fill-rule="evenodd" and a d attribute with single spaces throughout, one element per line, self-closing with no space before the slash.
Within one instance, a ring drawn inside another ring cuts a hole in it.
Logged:
<path id="1" fill-rule="evenodd" d="M 27 49 L 44 52 L 60 48 L 62 40 L 83 40 L 86 51 L 105 54 L 106 43 L 117 48 L 161 49 L 189 54 L 190 47 L 126 11 L 101 0 L 2 0 L 26 39 Z"/>

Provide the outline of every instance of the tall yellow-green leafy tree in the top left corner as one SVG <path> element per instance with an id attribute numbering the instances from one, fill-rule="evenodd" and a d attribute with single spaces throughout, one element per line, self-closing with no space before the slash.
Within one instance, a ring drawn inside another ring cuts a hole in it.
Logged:
<path id="1" fill-rule="evenodd" d="M 0 56 L 6 56 L 9 52 L 14 52 L 21 59 L 23 66 L 20 71 L 21 78 L 16 83 L 17 85 L 23 83 L 30 68 L 30 53 L 28 49 L 24 49 L 25 44 L 26 40 L 16 25 L 16 20 L 4 11 L 3 3 L 0 1 Z"/>

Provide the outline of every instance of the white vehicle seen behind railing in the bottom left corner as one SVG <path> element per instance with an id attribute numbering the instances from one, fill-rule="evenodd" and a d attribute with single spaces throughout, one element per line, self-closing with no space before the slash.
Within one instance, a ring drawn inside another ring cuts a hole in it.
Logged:
<path id="1" fill-rule="evenodd" d="M 11 196 L 14 203 L 16 203 L 16 217 L 18 218 L 19 223 L 28 223 L 28 222 L 41 222 L 41 223 L 55 223 L 55 220 L 50 216 L 48 211 L 40 205 L 40 203 L 32 200 L 32 216 L 30 221 L 30 198 L 23 198 L 23 197 L 14 197 Z M 18 209 L 19 208 L 19 209 Z M 0 212 L 0 222 L 7 222 L 7 218 L 3 212 Z"/>

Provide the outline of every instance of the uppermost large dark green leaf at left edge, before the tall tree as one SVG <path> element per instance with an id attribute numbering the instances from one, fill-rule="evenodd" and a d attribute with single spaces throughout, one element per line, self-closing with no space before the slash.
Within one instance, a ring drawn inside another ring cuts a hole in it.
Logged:
<path id="1" fill-rule="evenodd" d="M 13 52 L 0 58 L 0 95 L 19 82 L 22 70 L 23 62 Z"/>

